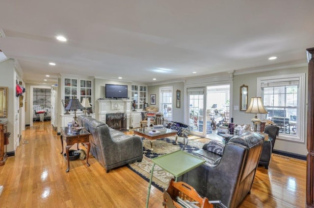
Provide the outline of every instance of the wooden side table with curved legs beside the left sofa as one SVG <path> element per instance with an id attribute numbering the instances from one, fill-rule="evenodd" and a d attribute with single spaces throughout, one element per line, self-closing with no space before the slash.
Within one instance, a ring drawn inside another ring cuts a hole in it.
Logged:
<path id="1" fill-rule="evenodd" d="M 71 132 L 71 131 L 70 131 Z M 77 134 L 69 134 L 69 128 L 68 127 L 62 127 L 61 128 L 61 147 L 63 153 L 63 140 L 65 141 L 65 152 L 68 160 L 68 168 L 66 172 L 69 172 L 70 170 L 70 157 L 69 157 L 69 149 L 75 144 L 75 143 L 85 143 L 87 145 L 87 153 L 86 153 L 86 163 L 87 166 L 90 166 L 88 163 L 88 156 L 89 156 L 89 149 L 90 149 L 90 143 L 89 143 L 89 135 L 90 133 L 86 131 L 85 129 L 82 129 Z"/>

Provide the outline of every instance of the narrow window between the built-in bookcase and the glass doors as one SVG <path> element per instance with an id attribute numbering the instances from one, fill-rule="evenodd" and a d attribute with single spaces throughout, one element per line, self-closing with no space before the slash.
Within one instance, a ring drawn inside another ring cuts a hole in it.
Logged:
<path id="1" fill-rule="evenodd" d="M 165 120 L 172 120 L 172 87 L 159 88 L 160 106 L 159 111 L 163 113 Z"/>

